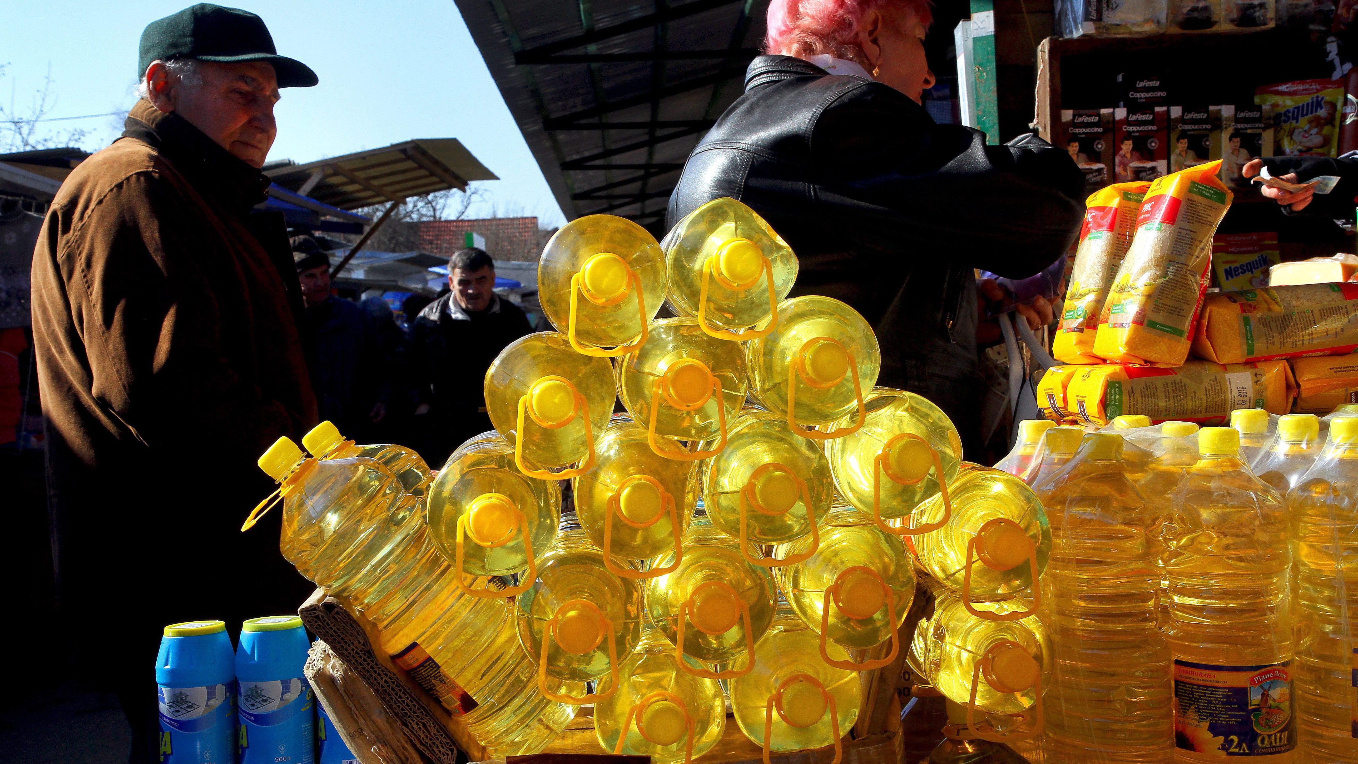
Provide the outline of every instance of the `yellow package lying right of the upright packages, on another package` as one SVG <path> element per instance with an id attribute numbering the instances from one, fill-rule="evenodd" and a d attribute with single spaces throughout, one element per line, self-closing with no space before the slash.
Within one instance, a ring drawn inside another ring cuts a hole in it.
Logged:
<path id="1" fill-rule="evenodd" d="M 1358 284 L 1306 284 L 1207 299 L 1194 356 L 1240 364 L 1358 349 Z"/>

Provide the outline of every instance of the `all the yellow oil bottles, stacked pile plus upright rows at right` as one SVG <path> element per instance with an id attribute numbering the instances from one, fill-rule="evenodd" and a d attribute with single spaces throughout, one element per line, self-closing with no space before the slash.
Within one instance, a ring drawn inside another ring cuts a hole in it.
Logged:
<path id="1" fill-rule="evenodd" d="M 329 423 L 259 459 L 284 555 L 497 759 L 588 704 L 603 750 L 687 763 L 729 699 L 766 761 L 838 764 L 858 672 L 904 650 L 945 699 L 933 763 L 1291 761 L 1298 727 L 1312 760 L 1358 761 L 1358 418 L 1024 422 L 982 467 L 938 407 L 876 387 L 862 316 L 788 299 L 796 275 L 728 198 L 659 243 L 568 224 L 538 271 L 557 331 L 486 372 L 493 432 L 436 474 Z M 932 615 L 902 645 L 917 581 Z"/>

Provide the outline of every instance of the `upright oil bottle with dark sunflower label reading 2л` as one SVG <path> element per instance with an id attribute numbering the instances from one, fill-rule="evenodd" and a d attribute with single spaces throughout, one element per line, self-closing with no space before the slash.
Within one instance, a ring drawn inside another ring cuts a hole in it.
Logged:
<path id="1" fill-rule="evenodd" d="M 1240 433 L 1205 427 L 1198 449 L 1167 539 L 1175 761 L 1236 755 L 1290 764 L 1287 509 L 1240 459 Z"/>

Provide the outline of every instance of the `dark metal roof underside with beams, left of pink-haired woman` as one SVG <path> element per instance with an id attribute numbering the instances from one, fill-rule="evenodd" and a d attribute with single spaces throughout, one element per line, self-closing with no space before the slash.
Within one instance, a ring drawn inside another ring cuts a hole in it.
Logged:
<path id="1" fill-rule="evenodd" d="M 664 224 L 679 171 L 744 90 L 767 0 L 456 0 L 569 218 Z"/>

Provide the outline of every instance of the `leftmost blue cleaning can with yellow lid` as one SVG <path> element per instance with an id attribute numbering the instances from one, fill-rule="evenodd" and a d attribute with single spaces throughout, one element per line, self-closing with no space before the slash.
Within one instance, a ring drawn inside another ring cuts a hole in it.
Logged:
<path id="1" fill-rule="evenodd" d="M 164 628 L 156 655 L 162 764 L 234 764 L 236 680 L 220 620 Z"/>

